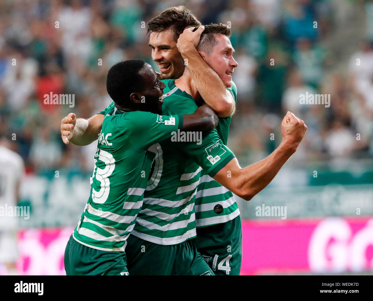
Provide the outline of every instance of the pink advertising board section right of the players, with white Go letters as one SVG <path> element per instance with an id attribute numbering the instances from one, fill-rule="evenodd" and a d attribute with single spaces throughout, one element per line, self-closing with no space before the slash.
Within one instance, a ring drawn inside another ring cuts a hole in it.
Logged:
<path id="1" fill-rule="evenodd" d="M 373 270 L 373 218 L 243 221 L 241 275 Z"/>

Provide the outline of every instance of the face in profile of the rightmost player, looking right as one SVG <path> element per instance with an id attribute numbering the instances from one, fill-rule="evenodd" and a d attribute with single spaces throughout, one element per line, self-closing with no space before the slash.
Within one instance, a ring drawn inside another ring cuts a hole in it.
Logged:
<path id="1" fill-rule="evenodd" d="M 232 87 L 233 69 L 238 63 L 233 59 L 234 49 L 231 41 L 224 34 L 215 34 L 216 44 L 210 53 L 199 51 L 200 55 L 222 79 L 227 88 Z"/>

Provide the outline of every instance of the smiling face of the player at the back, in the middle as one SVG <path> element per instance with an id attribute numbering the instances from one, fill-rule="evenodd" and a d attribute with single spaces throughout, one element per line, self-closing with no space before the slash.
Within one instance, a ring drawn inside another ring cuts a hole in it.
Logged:
<path id="1" fill-rule="evenodd" d="M 184 60 L 176 47 L 172 29 L 151 32 L 149 46 L 151 58 L 157 63 L 161 80 L 176 79 L 184 73 Z"/>

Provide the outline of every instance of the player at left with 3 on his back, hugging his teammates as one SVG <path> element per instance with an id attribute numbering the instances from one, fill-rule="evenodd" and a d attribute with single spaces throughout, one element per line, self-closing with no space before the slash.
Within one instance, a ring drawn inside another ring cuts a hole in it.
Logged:
<path id="1" fill-rule="evenodd" d="M 207 132 L 218 121 L 206 104 L 189 115 L 160 115 L 165 85 L 142 60 L 112 66 L 106 86 L 114 105 L 107 108 L 112 114 L 106 114 L 98 138 L 90 197 L 66 246 L 67 275 L 128 274 L 126 240 L 154 157 L 147 149 L 171 140 L 178 129 Z"/>

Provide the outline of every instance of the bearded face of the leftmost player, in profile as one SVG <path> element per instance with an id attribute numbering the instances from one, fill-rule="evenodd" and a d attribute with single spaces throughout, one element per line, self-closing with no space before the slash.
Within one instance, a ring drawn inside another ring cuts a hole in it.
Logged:
<path id="1" fill-rule="evenodd" d="M 157 72 L 148 63 L 145 63 L 140 69 L 139 75 L 144 80 L 144 90 L 141 93 L 137 93 L 137 99 L 140 100 L 140 103 L 142 103 L 141 100 L 145 101 L 146 111 L 162 114 L 162 96 L 166 85 L 160 81 Z"/>

